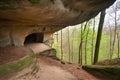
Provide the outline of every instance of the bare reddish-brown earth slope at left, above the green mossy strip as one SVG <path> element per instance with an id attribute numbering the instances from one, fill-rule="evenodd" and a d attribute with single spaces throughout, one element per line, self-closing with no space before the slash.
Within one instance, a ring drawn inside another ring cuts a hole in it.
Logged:
<path id="1" fill-rule="evenodd" d="M 0 48 L 0 65 L 19 60 L 24 57 L 29 50 L 24 47 L 5 47 Z"/>

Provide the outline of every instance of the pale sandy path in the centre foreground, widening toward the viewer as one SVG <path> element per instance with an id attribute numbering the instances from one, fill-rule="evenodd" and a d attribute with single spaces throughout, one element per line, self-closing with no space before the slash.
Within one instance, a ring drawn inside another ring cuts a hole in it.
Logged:
<path id="1" fill-rule="evenodd" d="M 51 66 L 37 58 L 29 68 L 18 72 L 9 80 L 78 80 L 71 73 L 57 66 Z"/>

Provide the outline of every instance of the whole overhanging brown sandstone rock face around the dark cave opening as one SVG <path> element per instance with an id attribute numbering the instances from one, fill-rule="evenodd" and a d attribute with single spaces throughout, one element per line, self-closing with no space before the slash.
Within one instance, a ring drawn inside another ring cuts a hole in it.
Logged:
<path id="1" fill-rule="evenodd" d="M 31 33 L 45 36 L 95 17 L 115 0 L 0 0 L 0 46 L 23 45 Z M 46 37 L 45 37 L 46 39 Z"/>

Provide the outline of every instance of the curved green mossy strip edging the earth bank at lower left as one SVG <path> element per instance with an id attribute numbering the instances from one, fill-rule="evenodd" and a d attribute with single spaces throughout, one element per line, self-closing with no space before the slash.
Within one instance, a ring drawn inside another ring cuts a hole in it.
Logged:
<path id="1" fill-rule="evenodd" d="M 7 75 L 9 73 L 18 72 L 30 66 L 30 64 L 33 63 L 34 59 L 35 59 L 35 54 L 32 52 L 31 54 L 28 54 L 27 56 L 25 56 L 24 58 L 18 61 L 0 65 L 0 76 Z"/>

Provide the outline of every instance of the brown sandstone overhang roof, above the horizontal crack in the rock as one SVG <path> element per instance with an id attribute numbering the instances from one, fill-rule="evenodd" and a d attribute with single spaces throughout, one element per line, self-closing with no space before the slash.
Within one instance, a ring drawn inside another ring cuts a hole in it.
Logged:
<path id="1" fill-rule="evenodd" d="M 0 25 L 69 26 L 95 17 L 115 0 L 0 0 Z"/>

